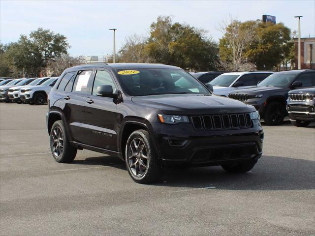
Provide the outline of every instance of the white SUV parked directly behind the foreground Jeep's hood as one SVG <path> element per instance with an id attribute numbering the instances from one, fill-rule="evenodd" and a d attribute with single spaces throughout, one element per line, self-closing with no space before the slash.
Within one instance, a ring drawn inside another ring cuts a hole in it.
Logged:
<path id="1" fill-rule="evenodd" d="M 242 71 L 242 72 L 229 72 L 219 75 L 208 84 L 213 86 L 213 92 L 217 95 L 227 97 L 228 93 L 236 89 L 247 89 L 256 86 L 273 71 Z"/>

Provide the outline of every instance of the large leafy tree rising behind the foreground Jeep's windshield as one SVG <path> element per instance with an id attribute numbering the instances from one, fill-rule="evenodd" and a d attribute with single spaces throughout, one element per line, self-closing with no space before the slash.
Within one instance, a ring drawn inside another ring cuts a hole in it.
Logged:
<path id="1" fill-rule="evenodd" d="M 144 50 L 157 63 L 187 70 L 216 70 L 218 46 L 206 37 L 206 31 L 173 23 L 171 16 L 159 16 L 151 24 Z"/>

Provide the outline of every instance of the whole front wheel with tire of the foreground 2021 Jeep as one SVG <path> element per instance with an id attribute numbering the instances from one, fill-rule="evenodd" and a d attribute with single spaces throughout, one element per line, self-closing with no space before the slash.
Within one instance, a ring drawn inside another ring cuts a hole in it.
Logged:
<path id="1" fill-rule="evenodd" d="M 137 183 L 151 183 L 160 177 L 160 164 L 148 131 L 140 129 L 130 134 L 125 151 L 128 173 Z"/>

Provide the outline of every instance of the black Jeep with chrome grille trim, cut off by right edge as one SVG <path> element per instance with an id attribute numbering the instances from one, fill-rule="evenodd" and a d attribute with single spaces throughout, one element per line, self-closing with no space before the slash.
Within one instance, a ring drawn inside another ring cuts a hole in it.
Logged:
<path id="1" fill-rule="evenodd" d="M 289 91 L 286 110 L 291 123 L 297 127 L 306 127 L 315 121 L 315 87 Z"/>

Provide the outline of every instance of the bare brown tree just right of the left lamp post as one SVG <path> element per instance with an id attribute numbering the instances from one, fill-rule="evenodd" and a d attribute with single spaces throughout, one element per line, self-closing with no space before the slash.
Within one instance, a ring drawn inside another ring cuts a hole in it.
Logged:
<path id="1" fill-rule="evenodd" d="M 122 49 L 119 51 L 120 62 L 150 63 L 154 59 L 146 52 L 148 38 L 139 34 L 132 34 L 126 37 Z"/>

